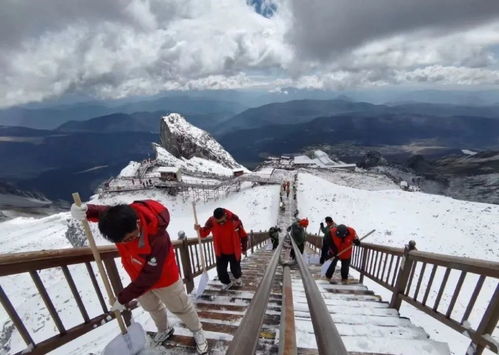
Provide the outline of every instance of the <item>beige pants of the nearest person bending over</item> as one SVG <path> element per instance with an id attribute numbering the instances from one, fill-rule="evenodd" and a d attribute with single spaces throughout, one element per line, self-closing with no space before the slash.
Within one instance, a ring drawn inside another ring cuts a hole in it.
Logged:
<path id="1" fill-rule="evenodd" d="M 147 291 L 137 300 L 142 308 L 151 314 L 158 332 L 168 328 L 167 309 L 180 318 L 191 331 L 196 332 L 201 329 L 196 309 L 187 296 L 180 278 L 170 286 Z"/>

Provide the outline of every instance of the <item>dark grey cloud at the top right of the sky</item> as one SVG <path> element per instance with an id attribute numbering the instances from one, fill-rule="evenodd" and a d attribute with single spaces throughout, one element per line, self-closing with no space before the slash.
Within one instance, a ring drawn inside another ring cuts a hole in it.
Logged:
<path id="1" fill-rule="evenodd" d="M 327 60 L 414 31 L 443 35 L 499 20 L 497 0 L 291 0 L 286 39 L 301 58 Z"/>

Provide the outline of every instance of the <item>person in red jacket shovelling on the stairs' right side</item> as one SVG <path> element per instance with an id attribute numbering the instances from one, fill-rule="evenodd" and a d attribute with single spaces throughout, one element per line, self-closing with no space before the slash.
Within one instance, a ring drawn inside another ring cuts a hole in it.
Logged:
<path id="1" fill-rule="evenodd" d="M 341 282 L 346 283 L 348 280 L 350 259 L 352 258 L 351 246 L 352 244 L 360 245 L 359 237 L 357 237 L 355 229 L 347 227 L 344 224 L 332 228 L 329 231 L 329 236 L 331 237 L 329 254 L 332 255 L 333 261 L 326 271 L 326 277 L 331 283 L 335 283 L 335 281 L 331 280 L 331 277 L 334 274 L 338 260 L 341 260 Z M 349 247 L 350 249 L 348 249 Z"/>

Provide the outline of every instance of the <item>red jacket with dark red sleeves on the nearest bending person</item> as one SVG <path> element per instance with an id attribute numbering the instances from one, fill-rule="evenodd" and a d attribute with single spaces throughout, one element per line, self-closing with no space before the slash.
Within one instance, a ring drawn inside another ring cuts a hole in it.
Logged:
<path id="1" fill-rule="evenodd" d="M 116 243 L 121 262 L 132 282 L 118 295 L 121 304 L 128 303 L 150 289 L 170 286 L 179 279 L 175 253 L 166 227 L 170 214 L 153 200 L 135 201 L 132 207 L 140 223 L 140 238 Z M 98 222 L 109 206 L 88 205 L 87 218 Z"/>

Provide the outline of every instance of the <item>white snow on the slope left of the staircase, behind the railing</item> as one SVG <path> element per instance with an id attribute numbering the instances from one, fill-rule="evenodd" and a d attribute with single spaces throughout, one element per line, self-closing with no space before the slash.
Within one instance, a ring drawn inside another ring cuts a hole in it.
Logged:
<path id="1" fill-rule="evenodd" d="M 123 193 L 101 200 L 94 198 L 90 203 L 114 205 L 118 203 L 130 203 L 140 199 L 155 199 L 168 207 L 171 214 L 171 222 L 167 230 L 172 239 L 177 239 L 177 234 L 181 230 L 185 231 L 188 237 L 192 238 L 196 236 L 193 228 L 194 218 L 191 202 L 183 201 L 179 196 L 170 196 L 161 190 Z M 218 201 L 199 202 L 197 213 L 200 219 L 199 222 L 204 224 L 206 219 L 212 215 L 215 208 L 224 207 L 236 213 L 241 218 L 248 232 L 251 229 L 255 231 L 267 230 L 277 220 L 278 204 L 279 186 L 258 186 L 241 190 L 237 194 L 231 194 L 227 198 Z M 69 218 L 69 212 L 65 212 L 39 219 L 20 217 L 0 223 L 2 253 L 70 248 L 71 245 L 65 238 L 67 220 Z M 91 228 L 98 245 L 109 244 L 109 242 L 100 236 L 95 223 L 91 223 Z M 127 282 L 128 277 L 124 275 L 122 268 L 118 269 L 124 282 Z M 95 270 L 96 267 L 94 267 Z M 95 292 L 85 268 L 81 265 L 70 266 L 70 271 L 75 278 L 76 285 L 78 285 L 89 316 L 94 317 L 100 314 L 102 308 L 94 294 Z M 214 272 L 214 270 L 212 271 Z M 211 277 L 213 277 L 213 272 L 211 272 Z M 81 322 L 82 317 L 67 287 L 67 282 L 62 272 L 60 270 L 49 269 L 43 270 L 39 274 L 61 314 L 64 326 L 69 328 Z M 56 327 L 50 319 L 43 301 L 37 296 L 38 292 L 28 274 L 2 277 L 0 278 L 0 282 L 18 314 L 32 332 L 35 341 L 40 341 L 56 334 Z M 101 287 L 101 289 L 104 290 L 104 287 Z M 140 315 L 142 311 L 137 310 L 136 312 Z M 143 318 L 147 317 L 144 316 Z M 9 317 L 5 310 L 3 307 L 0 307 L 0 329 L 12 326 L 8 319 Z M 85 351 L 78 352 L 81 354 L 94 353 L 94 351 L 102 349 L 106 344 L 105 340 L 109 340 L 109 333 L 106 331 L 109 328 L 106 327 L 91 332 L 93 334 L 89 335 L 88 339 L 78 339 L 76 341 L 77 345 L 68 345 L 64 349 L 75 349 L 74 346 L 80 350 L 84 348 Z M 153 328 L 149 329 L 153 330 Z M 118 334 L 117 332 L 116 330 L 112 334 Z M 17 352 L 25 348 L 24 341 L 17 331 L 13 332 L 9 345 L 11 347 L 11 351 L 9 352 Z M 54 353 L 68 353 L 64 352 L 65 350 L 61 351 L 56 350 Z M 1 350 L 0 353 L 2 353 Z"/>

